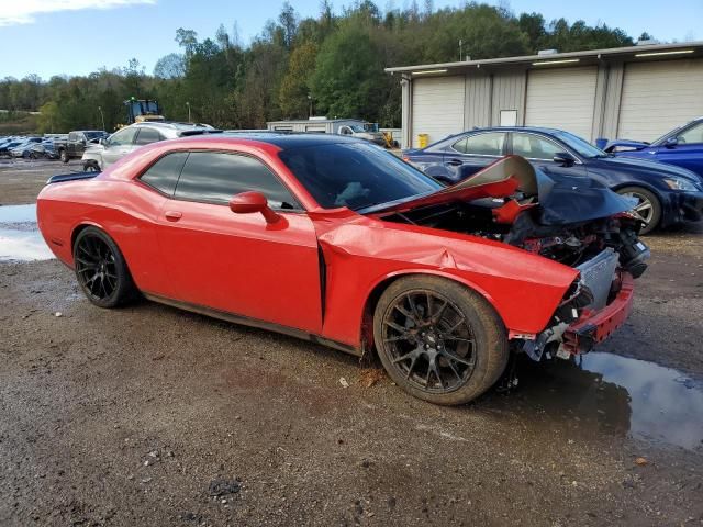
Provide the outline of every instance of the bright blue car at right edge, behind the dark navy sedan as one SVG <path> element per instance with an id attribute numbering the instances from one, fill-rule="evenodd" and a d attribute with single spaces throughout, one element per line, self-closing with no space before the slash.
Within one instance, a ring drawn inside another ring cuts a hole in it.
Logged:
<path id="1" fill-rule="evenodd" d="M 672 130 L 651 144 L 617 139 L 609 143 L 605 150 L 618 157 L 677 165 L 703 177 L 703 117 Z"/>

